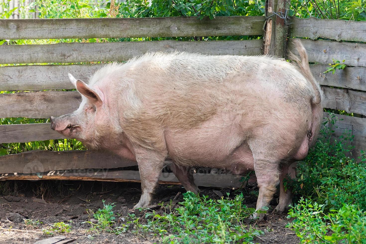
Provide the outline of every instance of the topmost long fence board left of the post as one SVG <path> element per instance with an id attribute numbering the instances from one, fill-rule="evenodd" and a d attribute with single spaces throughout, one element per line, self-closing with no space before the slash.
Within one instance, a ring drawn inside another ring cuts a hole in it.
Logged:
<path id="1" fill-rule="evenodd" d="M 264 16 L 0 19 L 0 39 L 263 35 Z"/>

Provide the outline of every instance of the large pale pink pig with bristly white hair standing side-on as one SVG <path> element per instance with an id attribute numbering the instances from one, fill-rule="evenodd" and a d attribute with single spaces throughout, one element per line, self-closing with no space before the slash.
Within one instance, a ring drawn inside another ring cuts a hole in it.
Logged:
<path id="1" fill-rule="evenodd" d="M 69 74 L 82 101 L 75 112 L 51 117 L 51 129 L 137 161 L 142 195 L 134 208 L 151 204 L 170 161 L 195 193 L 187 173 L 194 166 L 254 170 L 256 209 L 267 209 L 280 184 L 275 210 L 284 211 L 292 202 L 283 186 L 288 165 L 314 145 L 323 111 L 306 50 L 299 41 L 296 47 L 297 66 L 270 56 L 154 52 L 107 64 L 88 83 Z"/>

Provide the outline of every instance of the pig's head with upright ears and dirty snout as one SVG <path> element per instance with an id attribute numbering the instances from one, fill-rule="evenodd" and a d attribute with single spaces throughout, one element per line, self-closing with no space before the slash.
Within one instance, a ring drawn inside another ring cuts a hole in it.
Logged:
<path id="1" fill-rule="evenodd" d="M 98 139 L 108 133 L 106 125 L 110 123 L 109 110 L 106 109 L 103 92 L 94 85 L 87 85 L 69 74 L 70 81 L 82 95 L 82 102 L 77 110 L 68 115 L 50 117 L 51 129 L 68 138 L 75 138 L 88 147 L 98 146 Z"/>

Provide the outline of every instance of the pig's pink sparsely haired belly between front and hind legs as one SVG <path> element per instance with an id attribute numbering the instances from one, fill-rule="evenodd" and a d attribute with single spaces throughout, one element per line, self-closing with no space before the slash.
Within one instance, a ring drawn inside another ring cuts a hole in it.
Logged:
<path id="1" fill-rule="evenodd" d="M 232 174 L 254 170 L 253 154 L 239 125 L 168 132 L 165 139 L 169 157 L 178 165 L 224 168 Z"/>

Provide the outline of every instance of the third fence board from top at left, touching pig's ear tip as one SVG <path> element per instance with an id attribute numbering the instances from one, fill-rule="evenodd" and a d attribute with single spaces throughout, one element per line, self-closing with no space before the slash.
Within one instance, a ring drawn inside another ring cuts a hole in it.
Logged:
<path id="1" fill-rule="evenodd" d="M 67 74 L 87 81 L 104 64 L 18 65 L 0 67 L 0 91 L 75 89 Z"/>

